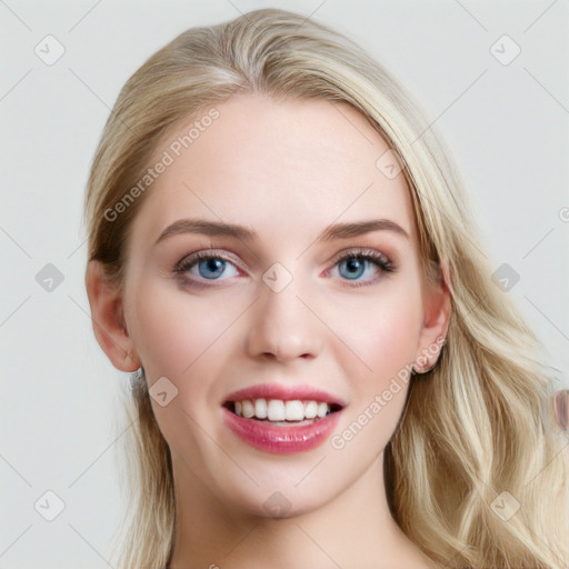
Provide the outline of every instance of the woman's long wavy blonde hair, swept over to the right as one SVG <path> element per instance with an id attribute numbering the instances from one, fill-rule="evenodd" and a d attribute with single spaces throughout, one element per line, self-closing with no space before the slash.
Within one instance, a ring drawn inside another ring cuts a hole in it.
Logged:
<path id="1" fill-rule="evenodd" d="M 189 29 L 154 53 L 121 90 L 96 153 L 86 196 L 89 259 L 121 286 L 129 228 L 151 189 L 117 219 L 106 212 L 144 176 L 166 133 L 240 92 L 358 109 L 401 161 L 423 267 L 448 262 L 445 355 L 432 371 L 411 379 L 386 448 L 393 518 L 440 567 L 566 567 L 569 468 L 567 439 L 548 416 L 555 375 L 510 297 L 491 280 L 448 150 L 397 80 L 343 36 L 263 9 Z M 166 567 L 173 547 L 174 488 L 143 376 L 127 410 L 130 501 L 117 563 L 156 569 Z M 511 512 L 515 500 L 515 515 L 498 516 L 503 505 Z"/>

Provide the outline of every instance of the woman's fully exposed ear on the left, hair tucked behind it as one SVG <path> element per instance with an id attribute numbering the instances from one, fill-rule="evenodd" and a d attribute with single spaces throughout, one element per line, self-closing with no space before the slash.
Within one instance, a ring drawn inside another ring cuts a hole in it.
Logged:
<path id="1" fill-rule="evenodd" d="M 106 278 L 100 261 L 89 261 L 84 283 L 99 346 L 117 369 L 136 371 L 140 368 L 140 359 L 127 331 L 118 287 Z"/>

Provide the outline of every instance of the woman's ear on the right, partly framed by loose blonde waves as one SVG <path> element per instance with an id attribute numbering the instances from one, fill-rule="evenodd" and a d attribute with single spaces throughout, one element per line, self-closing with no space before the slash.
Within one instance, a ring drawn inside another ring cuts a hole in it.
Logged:
<path id="1" fill-rule="evenodd" d="M 425 317 L 413 369 L 425 372 L 435 367 L 447 338 L 450 322 L 450 273 L 448 262 L 439 262 L 437 282 L 429 282 L 423 290 Z"/>

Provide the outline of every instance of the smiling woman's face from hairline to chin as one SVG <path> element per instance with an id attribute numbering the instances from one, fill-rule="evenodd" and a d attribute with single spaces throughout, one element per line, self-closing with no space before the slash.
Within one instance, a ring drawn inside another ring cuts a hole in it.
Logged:
<path id="1" fill-rule="evenodd" d="M 405 178 L 360 113 L 251 94 L 214 109 L 157 151 L 124 318 L 177 483 L 289 516 L 381 480 L 443 321 Z"/>

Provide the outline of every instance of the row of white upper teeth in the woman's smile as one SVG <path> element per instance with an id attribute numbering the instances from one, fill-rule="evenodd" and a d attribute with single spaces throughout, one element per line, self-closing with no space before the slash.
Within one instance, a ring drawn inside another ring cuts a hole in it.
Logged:
<path id="1" fill-rule="evenodd" d="M 250 419 L 269 419 L 269 421 L 302 421 L 315 417 L 326 417 L 330 406 L 318 401 L 282 401 L 281 399 L 244 399 L 234 402 L 236 413 Z"/>

